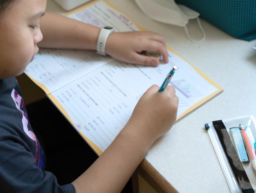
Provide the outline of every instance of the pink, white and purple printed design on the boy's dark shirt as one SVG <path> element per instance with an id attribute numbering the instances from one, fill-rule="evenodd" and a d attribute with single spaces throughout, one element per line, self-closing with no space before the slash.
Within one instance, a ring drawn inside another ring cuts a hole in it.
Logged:
<path id="1" fill-rule="evenodd" d="M 28 129 L 28 116 L 27 116 L 27 111 L 25 107 L 25 102 L 23 98 L 15 91 L 15 89 L 12 90 L 11 92 L 11 98 L 13 99 L 16 108 L 22 113 L 22 125 L 23 125 L 23 130 L 29 136 L 31 140 L 36 142 L 36 153 L 34 155 L 34 158 L 36 160 L 36 166 L 40 169 L 44 169 L 45 165 L 45 156 L 43 153 L 43 149 L 39 144 L 38 139 L 36 138 L 36 135 L 33 131 L 30 131 Z"/>

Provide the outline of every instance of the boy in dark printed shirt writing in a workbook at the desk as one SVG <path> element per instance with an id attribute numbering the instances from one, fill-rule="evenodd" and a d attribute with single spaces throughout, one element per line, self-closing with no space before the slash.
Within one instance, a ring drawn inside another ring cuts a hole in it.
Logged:
<path id="1" fill-rule="evenodd" d="M 40 134 L 41 129 L 32 129 L 35 121 L 28 119 L 15 76 L 25 71 L 38 52 L 38 46 L 96 50 L 100 29 L 45 13 L 45 7 L 46 0 L 0 0 L 0 192 L 121 192 L 153 142 L 173 126 L 178 105 L 175 89 L 168 86 L 158 93 L 158 86 L 150 87 L 106 151 L 88 169 L 81 169 L 76 179 L 61 184 L 58 177 L 47 170 L 45 152 L 40 144 L 47 139 L 39 142 L 40 136 L 35 133 Z M 125 50 L 122 45 L 126 45 Z M 112 33 L 105 52 L 123 62 L 159 65 L 157 58 L 139 54 L 146 50 L 158 51 L 168 62 L 164 38 L 153 32 Z M 47 106 L 41 105 L 41 108 Z M 30 117 L 33 113 L 44 112 L 41 108 L 31 108 Z M 46 113 L 42 113 L 40 119 L 49 121 Z M 50 128 L 43 128 L 48 129 L 47 132 L 54 129 L 50 123 L 46 125 Z M 62 151 L 61 146 L 58 151 Z M 62 161 L 65 160 L 59 160 Z M 57 163 L 54 167 L 58 166 Z M 64 178 L 69 177 L 69 173 L 65 175 Z"/>

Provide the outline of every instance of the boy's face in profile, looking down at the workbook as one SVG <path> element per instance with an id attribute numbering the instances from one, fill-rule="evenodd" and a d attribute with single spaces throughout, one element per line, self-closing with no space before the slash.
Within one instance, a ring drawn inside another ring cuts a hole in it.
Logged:
<path id="1" fill-rule="evenodd" d="M 47 0 L 15 0 L 0 15 L 0 80 L 22 74 L 38 52 Z"/>

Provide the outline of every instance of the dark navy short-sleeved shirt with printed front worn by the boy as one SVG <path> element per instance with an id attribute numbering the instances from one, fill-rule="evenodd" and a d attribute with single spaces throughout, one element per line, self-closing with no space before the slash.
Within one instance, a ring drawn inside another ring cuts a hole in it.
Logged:
<path id="1" fill-rule="evenodd" d="M 44 168 L 18 82 L 0 80 L 0 193 L 75 193 L 72 184 L 59 185 Z"/>

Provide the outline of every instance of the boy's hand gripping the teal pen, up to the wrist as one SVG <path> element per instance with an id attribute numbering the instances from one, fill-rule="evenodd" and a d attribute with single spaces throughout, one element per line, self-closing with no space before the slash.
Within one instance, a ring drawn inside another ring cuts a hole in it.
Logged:
<path id="1" fill-rule="evenodd" d="M 179 102 L 174 87 L 167 86 L 161 92 L 158 89 L 153 85 L 142 95 L 128 121 L 137 137 L 152 143 L 173 126 Z"/>

